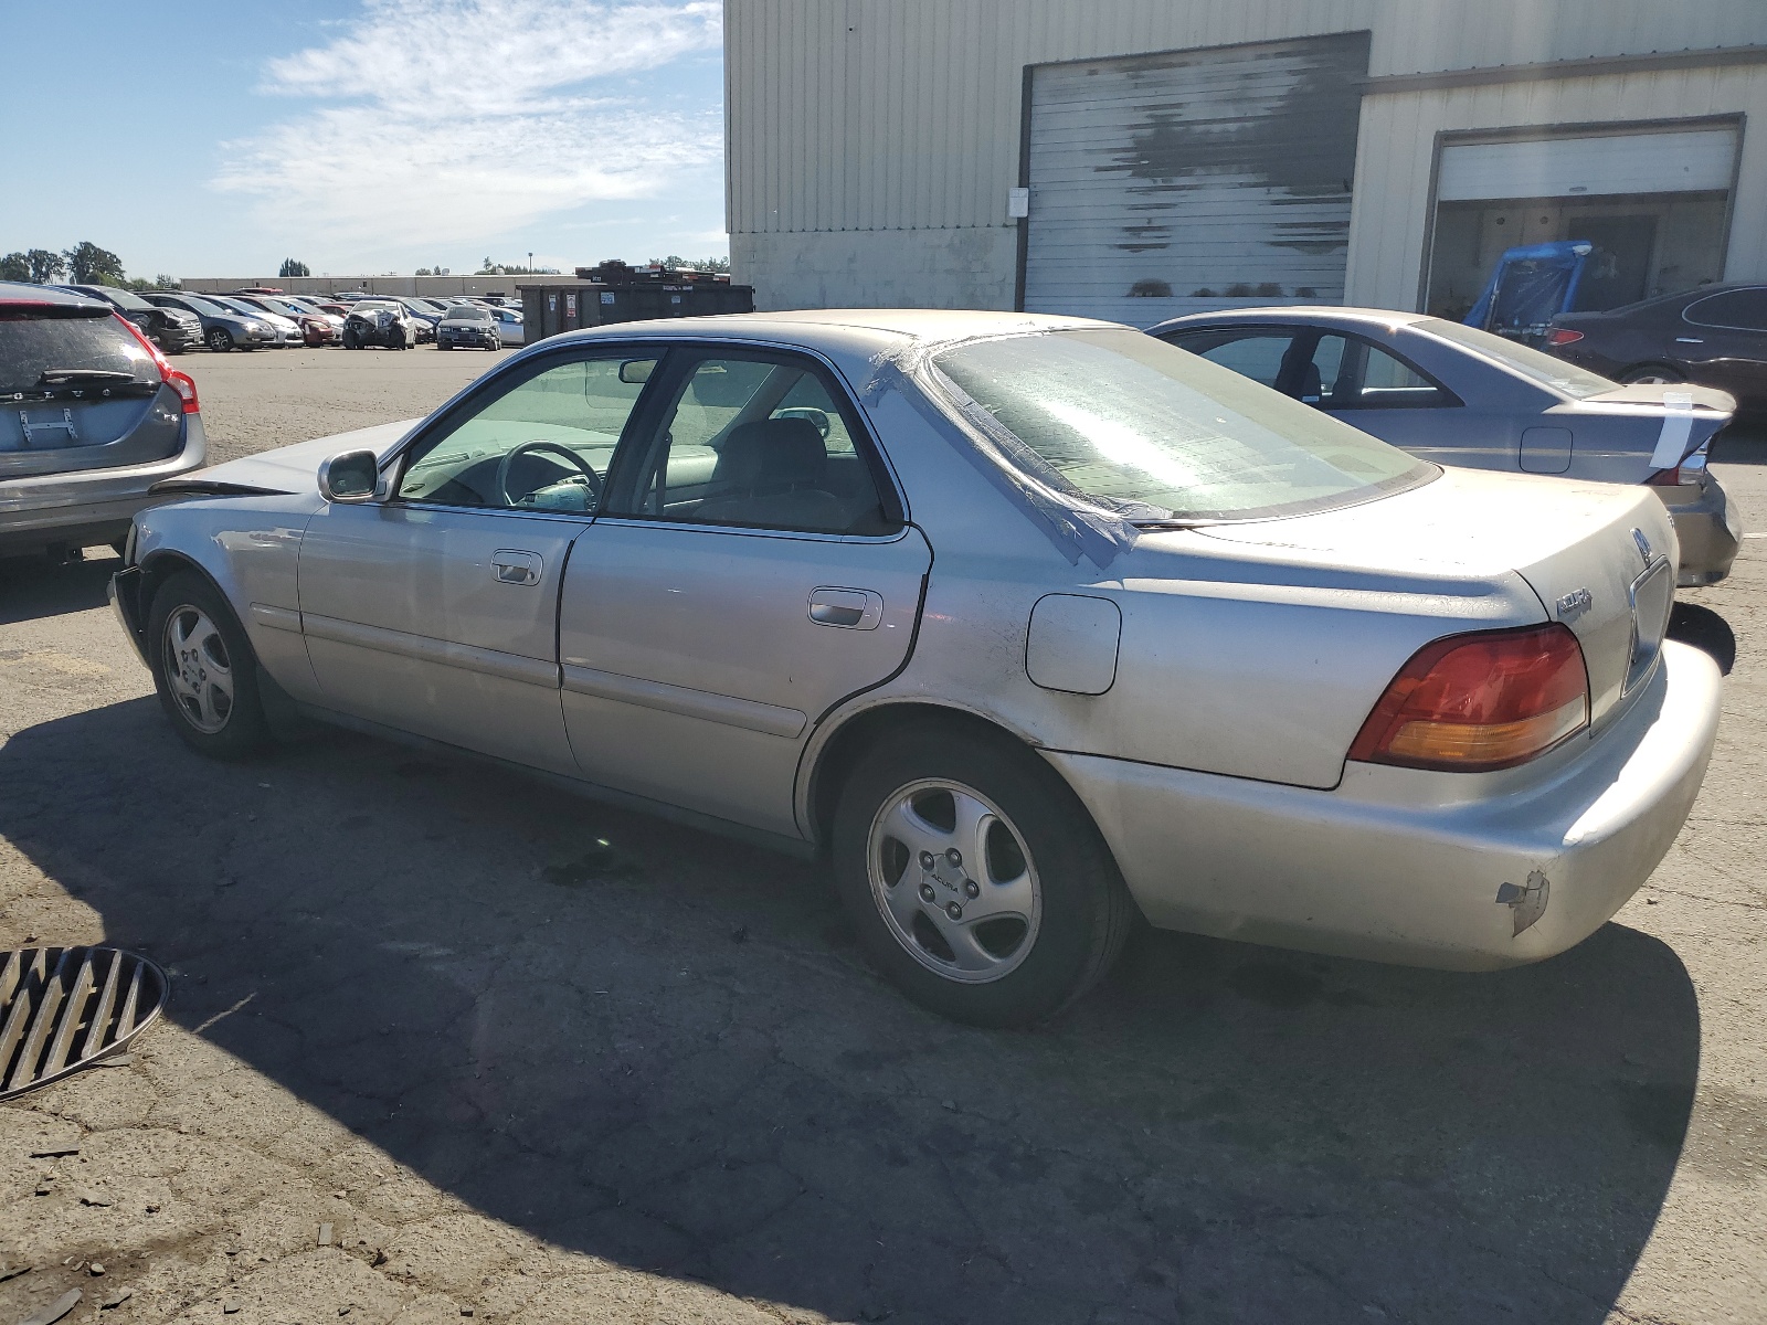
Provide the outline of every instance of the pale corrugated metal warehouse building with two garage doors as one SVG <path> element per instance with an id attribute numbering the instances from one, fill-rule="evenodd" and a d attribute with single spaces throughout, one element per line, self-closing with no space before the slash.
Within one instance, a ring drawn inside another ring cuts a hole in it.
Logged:
<path id="1" fill-rule="evenodd" d="M 1767 277 L 1767 0 L 726 0 L 756 306 L 1460 316 Z"/>

